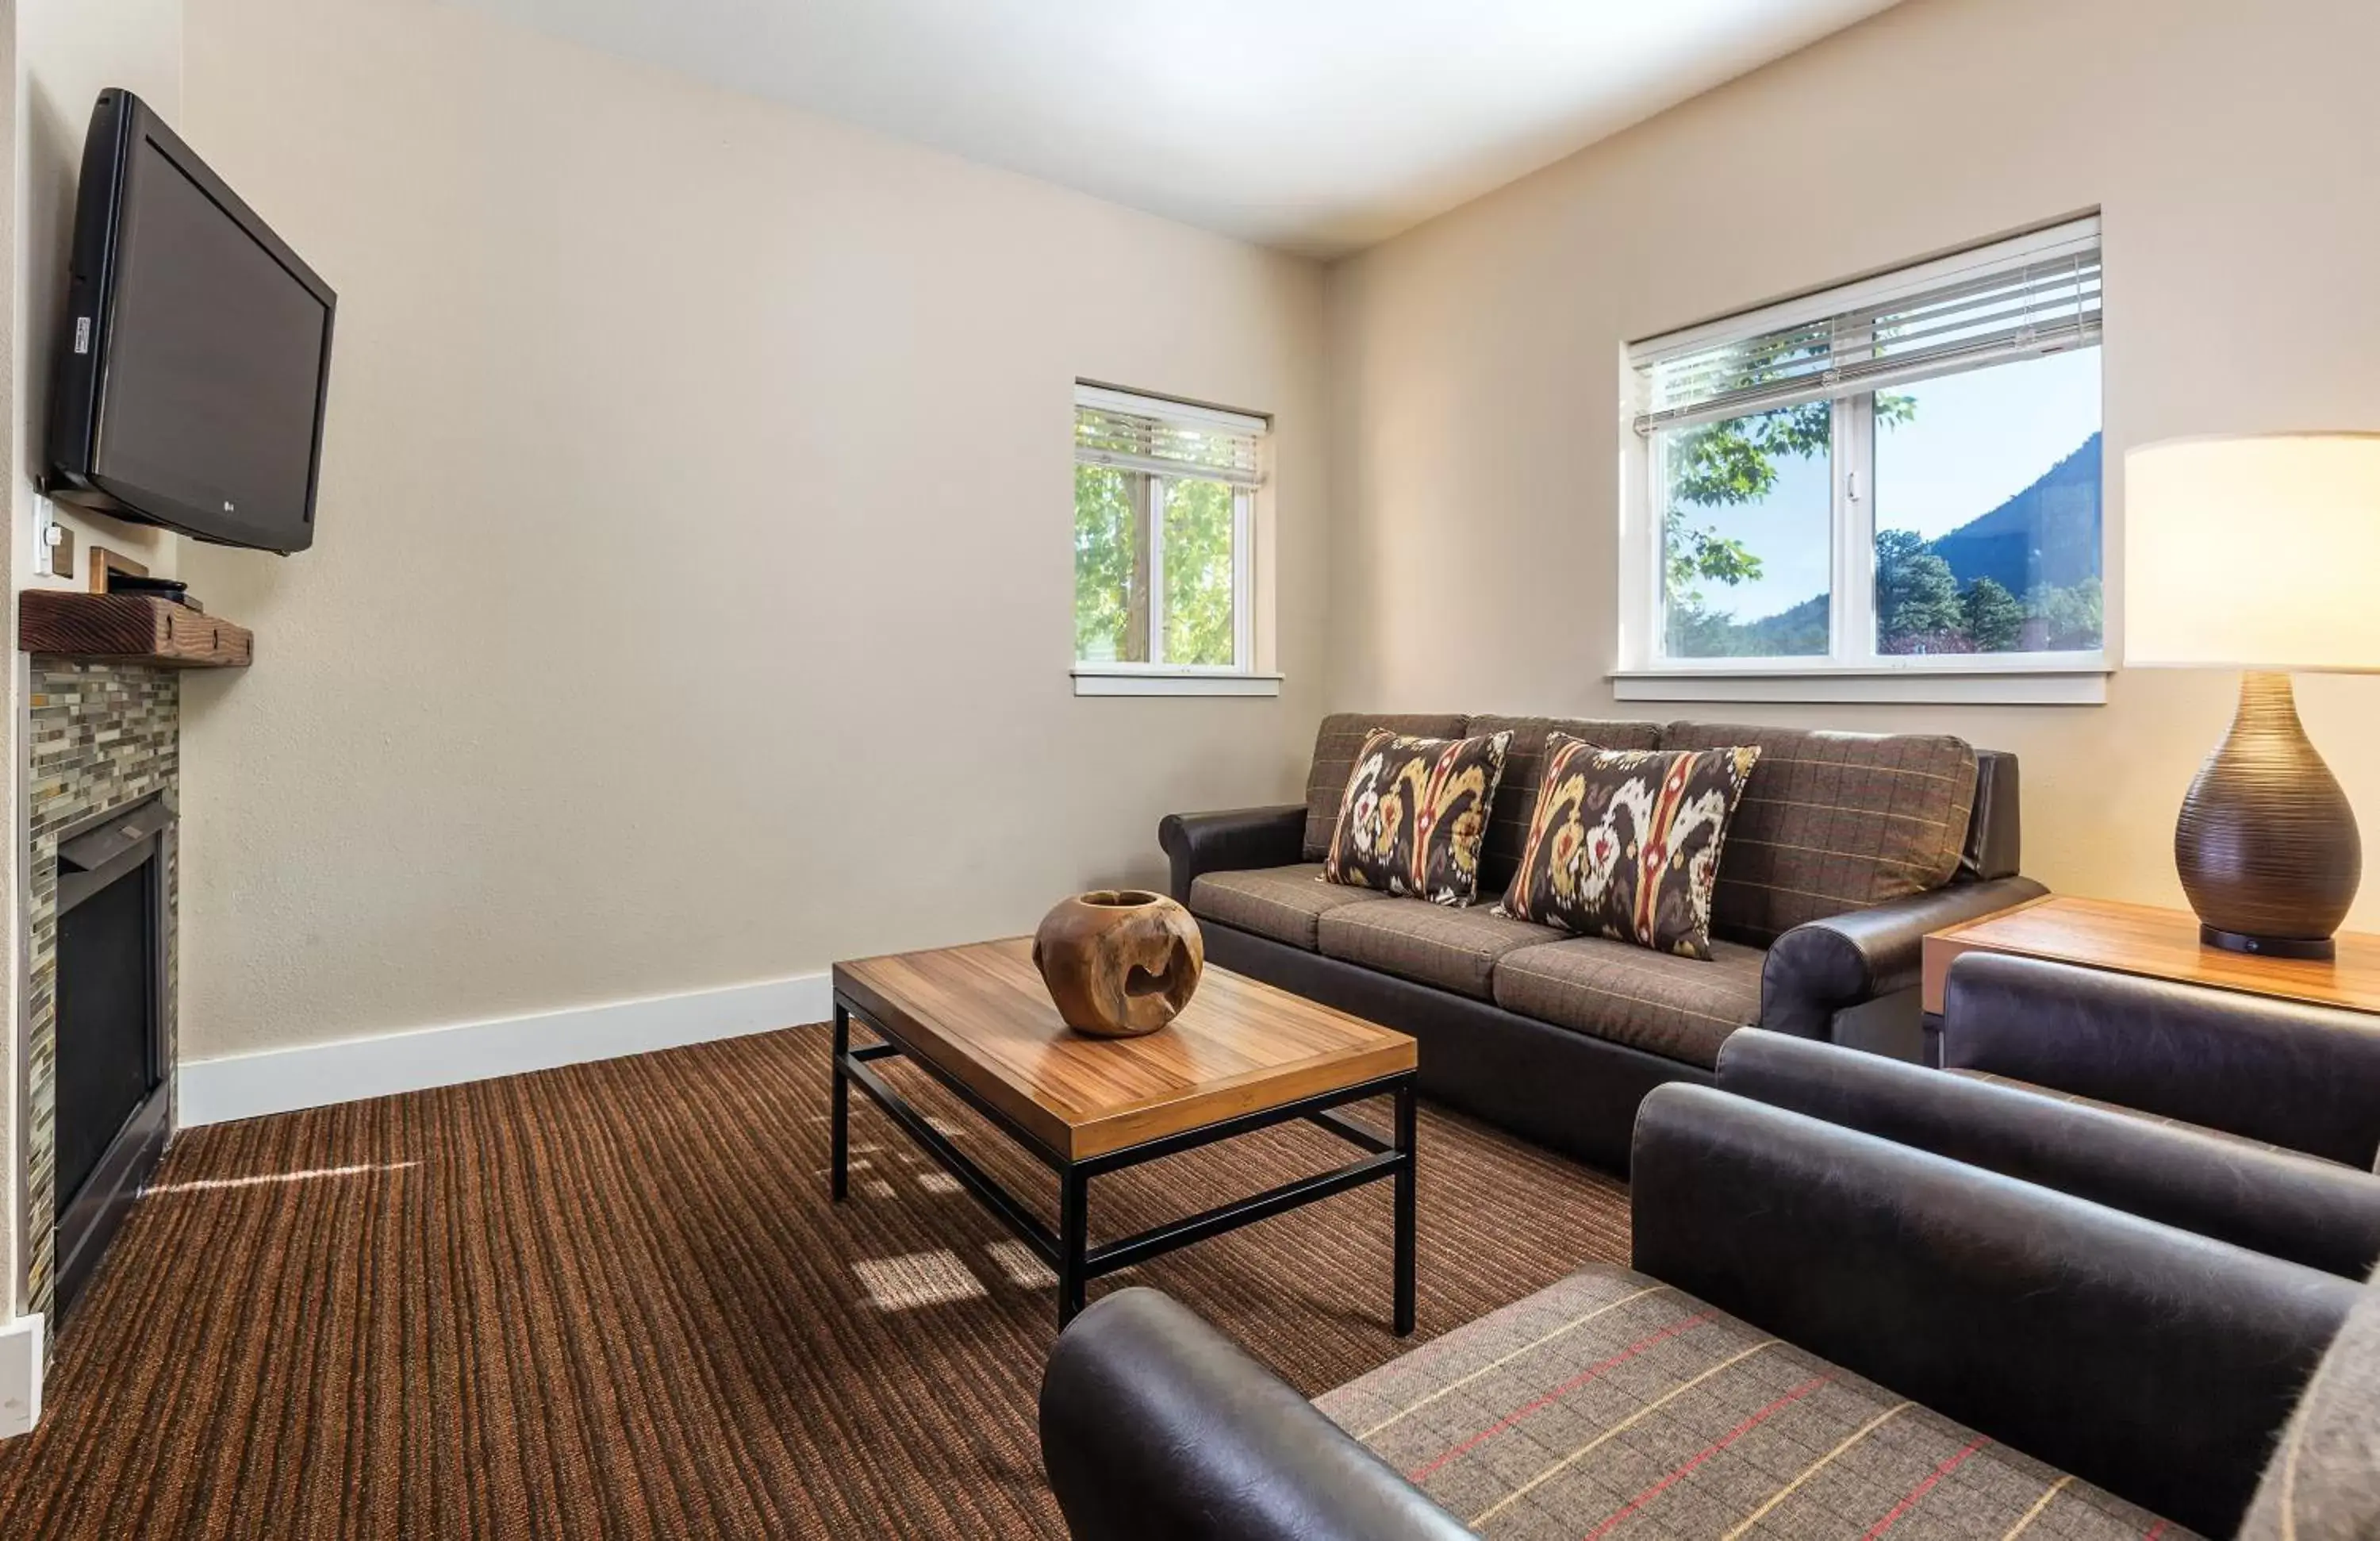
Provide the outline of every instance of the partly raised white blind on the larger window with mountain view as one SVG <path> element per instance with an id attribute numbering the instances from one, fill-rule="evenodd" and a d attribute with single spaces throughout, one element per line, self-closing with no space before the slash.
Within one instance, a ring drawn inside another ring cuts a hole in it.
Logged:
<path id="1" fill-rule="evenodd" d="M 2097 341 L 2094 217 L 1637 343 L 1635 429 L 1864 395 Z"/>

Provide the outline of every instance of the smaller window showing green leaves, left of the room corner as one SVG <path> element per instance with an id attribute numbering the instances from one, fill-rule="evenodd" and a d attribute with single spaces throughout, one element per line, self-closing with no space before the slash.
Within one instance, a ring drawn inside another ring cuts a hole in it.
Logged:
<path id="1" fill-rule="evenodd" d="M 1076 674 L 1252 674 L 1266 419 L 1076 386 Z"/>

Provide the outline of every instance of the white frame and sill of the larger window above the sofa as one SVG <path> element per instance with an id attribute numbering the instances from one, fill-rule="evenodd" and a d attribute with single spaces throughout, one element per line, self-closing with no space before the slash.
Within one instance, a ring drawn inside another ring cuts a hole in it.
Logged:
<path id="1" fill-rule="evenodd" d="M 1875 650 L 1875 393 L 1837 398 L 1830 467 L 1830 648 L 1825 657 L 1668 657 L 1664 653 L 1664 550 L 1659 433 L 1640 433 L 1645 360 L 1787 326 L 1840 317 L 1933 288 L 1961 269 L 2016 262 L 2033 252 L 2099 236 L 2099 219 L 2075 219 L 1918 267 L 1785 300 L 1621 348 L 1621 529 L 1618 529 L 1618 700 L 1797 700 L 1797 703 L 1999 703 L 2099 705 L 2113 669 L 2106 638 L 2118 617 L 2113 541 L 2099 524 L 2099 574 L 2109 605 L 2102 645 L 2090 653 L 1918 653 Z M 2102 348 L 2104 341 L 2085 343 Z M 2006 360 L 2002 360 L 2006 362 Z M 1756 407 L 1749 407 L 1756 410 Z M 2104 422 L 2104 414 L 2102 414 Z M 2104 507 L 2104 498 L 2102 498 Z"/>

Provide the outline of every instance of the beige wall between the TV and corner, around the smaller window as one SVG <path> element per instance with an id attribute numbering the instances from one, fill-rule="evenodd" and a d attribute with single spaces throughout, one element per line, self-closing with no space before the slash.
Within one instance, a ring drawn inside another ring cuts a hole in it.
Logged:
<path id="1" fill-rule="evenodd" d="M 1321 710 L 1321 269 L 476 14 L 190 0 L 340 291 L 319 545 L 183 726 L 183 1053 L 819 969 L 1159 876 Z M 1280 700 L 1076 700 L 1076 376 L 1278 417 Z"/>

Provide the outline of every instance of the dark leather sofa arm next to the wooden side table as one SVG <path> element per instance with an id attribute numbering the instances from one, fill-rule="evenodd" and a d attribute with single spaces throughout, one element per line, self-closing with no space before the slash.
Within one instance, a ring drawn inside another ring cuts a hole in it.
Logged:
<path id="1" fill-rule="evenodd" d="M 1835 1012 L 1918 981 L 1928 931 L 1956 927 L 2047 893 L 2030 876 L 1949 884 L 1873 910 L 1814 919 L 1778 936 L 1761 967 L 1761 1027 L 1830 1036 Z"/>

